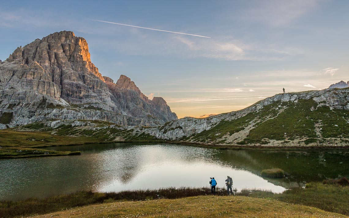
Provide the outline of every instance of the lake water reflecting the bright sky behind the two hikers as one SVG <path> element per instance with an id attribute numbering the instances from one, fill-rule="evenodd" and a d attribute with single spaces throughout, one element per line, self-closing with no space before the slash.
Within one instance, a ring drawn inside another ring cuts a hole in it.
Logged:
<path id="1" fill-rule="evenodd" d="M 348 152 L 216 150 L 174 144 L 112 143 L 50 147 L 79 156 L 0 160 L 0 200 L 68 194 L 78 190 L 121 191 L 166 187 L 225 187 L 280 193 L 305 182 L 349 176 Z M 259 176 L 282 168 L 284 179 Z"/>

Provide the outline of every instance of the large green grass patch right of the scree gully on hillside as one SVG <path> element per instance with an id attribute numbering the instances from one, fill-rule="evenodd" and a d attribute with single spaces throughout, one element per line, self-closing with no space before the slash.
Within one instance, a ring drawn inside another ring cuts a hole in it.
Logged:
<path id="1" fill-rule="evenodd" d="M 349 125 L 346 120 L 348 111 L 330 110 L 327 106 L 318 107 L 314 100 L 301 99 L 298 103 L 288 104 L 288 108 L 276 118 L 266 120 L 251 129 L 245 140 L 268 138 L 284 141 L 287 138 L 312 138 L 305 143 L 314 143 L 318 137 L 315 123 L 321 123 L 320 134 L 324 138 L 349 137 Z"/>

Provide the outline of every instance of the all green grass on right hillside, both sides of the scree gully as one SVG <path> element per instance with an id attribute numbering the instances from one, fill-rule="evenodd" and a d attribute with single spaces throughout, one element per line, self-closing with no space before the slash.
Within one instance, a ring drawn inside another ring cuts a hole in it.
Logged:
<path id="1" fill-rule="evenodd" d="M 284 110 L 281 111 L 281 108 Z M 348 116 L 348 111 L 330 110 L 327 106 L 318 106 L 313 100 L 276 102 L 236 120 L 222 120 L 213 128 L 191 137 L 191 140 L 225 143 L 227 135 L 231 136 L 253 123 L 247 137 L 238 144 L 267 144 L 269 140 L 287 142 L 295 139 L 304 140 L 305 144 L 326 144 L 333 137 L 349 138 Z M 320 136 L 317 135 L 316 124 Z"/>

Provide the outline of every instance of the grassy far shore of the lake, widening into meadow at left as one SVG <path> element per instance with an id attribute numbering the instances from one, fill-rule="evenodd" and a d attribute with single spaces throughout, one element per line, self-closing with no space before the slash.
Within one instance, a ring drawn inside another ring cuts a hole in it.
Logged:
<path id="1" fill-rule="evenodd" d="M 54 135 L 51 132 L 45 131 L 15 131 L 13 129 L 0 130 L 0 137 L 3 138 L 0 144 L 0 158 L 26 158 L 26 157 L 47 157 L 47 156 L 61 156 L 61 155 L 79 155 L 80 153 L 71 151 L 70 153 L 59 153 L 48 150 L 40 150 L 35 152 L 13 152 L 11 149 L 1 148 L 45 148 L 51 146 L 65 146 L 65 145 L 82 145 L 82 144 L 94 144 L 94 143 L 168 143 L 168 144 L 180 144 L 197 146 L 202 148 L 212 149 L 231 149 L 231 150 L 349 150 L 349 144 L 341 143 L 336 145 L 291 145 L 283 144 L 282 142 L 274 142 L 270 144 L 206 144 L 187 141 L 166 141 L 166 140 L 104 140 L 93 136 L 61 136 Z M 18 150 L 16 149 L 16 150 Z M 38 150 L 38 149 L 37 149 Z"/>

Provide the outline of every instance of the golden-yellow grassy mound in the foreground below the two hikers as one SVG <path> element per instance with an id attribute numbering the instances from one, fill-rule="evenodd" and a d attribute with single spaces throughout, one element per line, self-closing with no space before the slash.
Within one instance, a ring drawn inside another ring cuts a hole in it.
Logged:
<path id="1" fill-rule="evenodd" d="M 346 217 L 276 200 L 243 196 L 196 196 L 95 204 L 37 217 Z"/>

